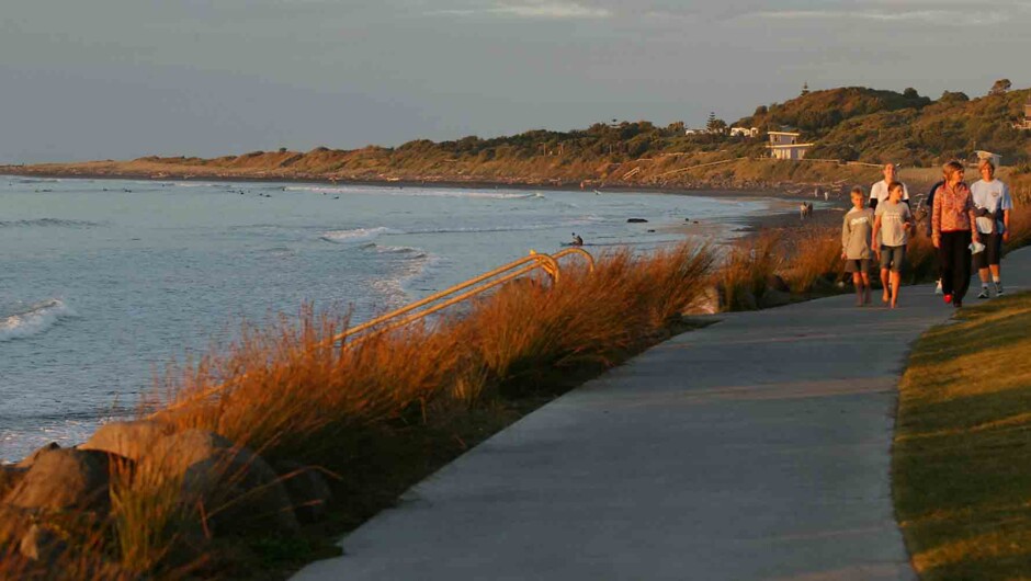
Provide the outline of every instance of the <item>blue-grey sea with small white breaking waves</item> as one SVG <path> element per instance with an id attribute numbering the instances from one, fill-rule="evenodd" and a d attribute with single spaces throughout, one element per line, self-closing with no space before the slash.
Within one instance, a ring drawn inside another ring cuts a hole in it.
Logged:
<path id="1" fill-rule="evenodd" d="M 735 236 L 771 200 L 503 189 L 0 176 L 0 460 L 132 413 L 239 322 L 361 321 L 571 233 L 649 249 L 686 218 Z M 644 218 L 645 224 L 627 224 Z"/>

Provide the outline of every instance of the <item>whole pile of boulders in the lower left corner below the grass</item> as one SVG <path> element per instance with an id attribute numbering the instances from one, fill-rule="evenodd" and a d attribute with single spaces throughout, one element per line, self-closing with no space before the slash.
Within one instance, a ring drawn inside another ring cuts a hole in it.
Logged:
<path id="1" fill-rule="evenodd" d="M 189 562 L 219 536 L 299 533 L 326 516 L 331 491 L 320 471 L 270 466 L 213 432 L 140 420 L 101 426 L 79 446 L 50 444 L 0 466 L 0 549 L 54 563 L 92 550 L 118 528 L 159 526 L 170 562 Z M 134 522 L 134 520 L 136 522 Z"/>

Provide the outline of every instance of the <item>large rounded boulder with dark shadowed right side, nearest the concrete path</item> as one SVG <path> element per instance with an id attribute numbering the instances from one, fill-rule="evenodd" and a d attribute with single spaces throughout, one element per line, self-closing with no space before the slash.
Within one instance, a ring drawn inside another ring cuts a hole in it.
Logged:
<path id="1" fill-rule="evenodd" d="M 250 449 L 213 432 L 185 430 L 156 440 L 139 470 L 182 478 L 182 501 L 201 504 L 218 533 L 301 528 L 275 471 Z"/>

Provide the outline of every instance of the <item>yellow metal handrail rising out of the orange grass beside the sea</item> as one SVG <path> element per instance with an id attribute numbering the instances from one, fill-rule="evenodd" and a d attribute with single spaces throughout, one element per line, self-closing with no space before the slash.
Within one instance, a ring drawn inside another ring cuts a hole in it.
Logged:
<path id="1" fill-rule="evenodd" d="M 338 333 L 337 335 L 333 335 L 331 339 L 326 341 L 324 345 L 327 343 L 332 344 L 332 343 L 338 343 L 338 342 L 341 342 L 341 343 L 345 342 L 348 345 L 358 344 L 362 341 L 365 341 L 378 334 L 382 334 L 382 333 L 392 331 L 394 329 L 404 327 L 406 324 L 409 324 L 411 322 L 415 322 L 419 319 L 422 319 L 423 317 L 432 315 L 433 312 L 443 310 L 452 305 L 466 300 L 480 293 L 489 290 L 496 286 L 502 285 L 509 281 L 516 280 L 524 274 L 529 274 L 539 269 L 547 273 L 548 277 L 551 277 L 552 283 L 554 284 L 555 282 L 558 281 L 558 276 L 559 276 L 559 266 L 558 266 L 558 261 L 556 259 L 559 257 L 565 257 L 565 255 L 575 253 L 575 252 L 581 253 L 588 260 L 590 270 L 593 271 L 594 259 L 593 257 L 590 255 L 590 253 L 588 253 L 585 250 L 581 250 L 578 248 L 570 248 L 568 250 L 564 250 L 563 252 L 555 254 L 554 257 L 551 254 L 539 254 L 531 250 L 529 257 L 524 257 L 519 260 L 512 261 L 490 272 L 480 274 L 479 276 L 476 276 L 475 278 L 469 278 L 468 281 L 465 281 L 464 283 L 452 286 L 451 288 L 447 288 L 446 290 L 441 290 L 440 293 L 430 295 L 408 306 L 387 312 L 386 315 L 376 317 L 375 319 L 372 319 L 371 321 L 366 321 L 362 324 L 352 327 L 348 329 L 347 331 L 343 331 L 342 333 Z M 465 292 L 462 293 L 462 290 L 465 290 Z M 461 293 L 461 294 L 455 295 L 456 293 Z M 452 295 L 455 295 L 455 296 L 452 296 Z M 443 300 L 443 301 L 438 303 L 440 300 Z M 433 305 L 433 303 L 438 303 L 438 304 Z M 432 306 L 423 310 L 419 310 L 420 308 L 427 307 L 429 305 L 432 305 Z M 397 319 L 398 317 L 404 317 L 404 318 L 401 318 L 400 320 L 393 320 L 393 319 Z M 385 323 L 389 323 L 389 324 L 385 324 Z M 384 327 L 379 327 L 379 326 L 384 326 Z M 355 335 L 359 335 L 359 337 L 355 337 Z M 349 339 L 350 341 L 348 341 Z M 218 394 L 219 391 L 228 389 L 229 387 L 240 383 L 246 377 L 247 377 L 247 374 L 243 374 L 238 377 L 234 377 L 233 379 L 229 379 L 225 381 L 224 384 L 219 384 L 212 388 L 205 389 L 201 394 L 196 394 L 181 401 L 171 403 L 167 406 L 165 409 L 159 410 L 158 412 L 151 414 L 151 417 L 157 415 L 161 412 L 167 412 L 170 410 L 181 408 L 192 401 L 196 401 L 199 399 L 204 399 L 204 398 L 214 396 L 215 394 Z"/>

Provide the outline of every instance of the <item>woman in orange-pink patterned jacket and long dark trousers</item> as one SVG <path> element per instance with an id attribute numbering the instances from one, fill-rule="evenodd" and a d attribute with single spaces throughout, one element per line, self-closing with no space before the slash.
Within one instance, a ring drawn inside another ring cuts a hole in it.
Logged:
<path id="1" fill-rule="evenodd" d="M 963 306 L 971 284 L 971 241 L 979 242 L 973 229 L 975 215 L 970 187 L 963 183 L 963 164 L 950 161 L 942 168 L 945 183 L 934 192 L 931 206 L 931 240 L 941 263 L 941 288 L 945 303 Z"/>

